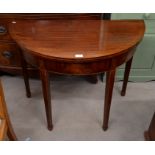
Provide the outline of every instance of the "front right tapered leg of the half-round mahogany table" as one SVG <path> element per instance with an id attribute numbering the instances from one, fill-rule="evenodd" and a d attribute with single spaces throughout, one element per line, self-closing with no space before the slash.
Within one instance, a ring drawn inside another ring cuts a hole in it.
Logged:
<path id="1" fill-rule="evenodd" d="M 110 70 L 106 73 L 106 88 L 105 88 L 105 101 L 104 101 L 104 116 L 103 116 L 103 130 L 108 129 L 109 113 L 112 100 L 112 92 L 115 81 L 116 69 Z"/>

